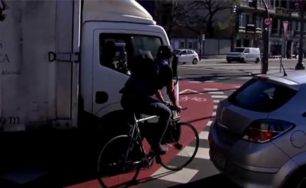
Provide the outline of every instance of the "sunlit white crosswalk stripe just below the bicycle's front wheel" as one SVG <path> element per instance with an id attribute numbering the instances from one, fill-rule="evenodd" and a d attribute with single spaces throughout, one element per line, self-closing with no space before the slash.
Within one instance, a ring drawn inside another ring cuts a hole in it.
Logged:
<path id="1" fill-rule="evenodd" d="M 199 170 L 189 168 L 183 168 L 179 171 L 172 171 L 161 167 L 154 172 L 151 177 L 185 184 L 188 183 L 196 175 L 196 173 L 198 173 L 198 171 Z"/>

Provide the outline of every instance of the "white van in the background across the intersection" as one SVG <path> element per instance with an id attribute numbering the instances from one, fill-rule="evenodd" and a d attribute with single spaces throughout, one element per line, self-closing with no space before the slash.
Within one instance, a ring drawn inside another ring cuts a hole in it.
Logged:
<path id="1" fill-rule="evenodd" d="M 254 62 L 259 63 L 260 61 L 260 50 L 259 48 L 239 47 L 234 48 L 227 55 L 227 62 Z"/>

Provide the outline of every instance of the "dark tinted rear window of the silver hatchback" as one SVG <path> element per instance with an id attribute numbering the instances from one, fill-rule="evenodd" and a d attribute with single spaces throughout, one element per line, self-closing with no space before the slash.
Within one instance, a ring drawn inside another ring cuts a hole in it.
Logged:
<path id="1" fill-rule="evenodd" d="M 229 96 L 229 102 L 252 111 L 271 112 L 287 103 L 296 93 L 289 87 L 251 79 Z"/>

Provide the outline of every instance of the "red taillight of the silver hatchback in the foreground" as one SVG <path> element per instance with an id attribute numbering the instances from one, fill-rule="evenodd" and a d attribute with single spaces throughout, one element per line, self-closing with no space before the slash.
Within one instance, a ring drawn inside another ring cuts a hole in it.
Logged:
<path id="1" fill-rule="evenodd" d="M 294 125 L 280 120 L 256 120 L 245 131 L 243 140 L 265 143 L 290 130 Z"/>

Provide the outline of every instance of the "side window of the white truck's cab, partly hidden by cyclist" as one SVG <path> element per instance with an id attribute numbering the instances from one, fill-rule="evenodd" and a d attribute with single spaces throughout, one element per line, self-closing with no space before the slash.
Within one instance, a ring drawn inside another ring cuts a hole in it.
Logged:
<path id="1" fill-rule="evenodd" d="M 130 75 L 128 66 L 135 56 L 143 52 L 156 58 L 160 38 L 128 34 L 100 34 L 100 64 L 118 72 Z"/>

